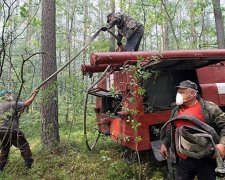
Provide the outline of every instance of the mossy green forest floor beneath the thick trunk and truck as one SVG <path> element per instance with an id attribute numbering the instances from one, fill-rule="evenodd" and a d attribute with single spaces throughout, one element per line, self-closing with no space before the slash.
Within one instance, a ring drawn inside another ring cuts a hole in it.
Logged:
<path id="1" fill-rule="evenodd" d="M 25 114 L 25 113 L 24 113 Z M 125 180 L 164 179 L 165 165 L 151 162 L 147 156 L 142 163 L 127 164 L 122 158 L 118 143 L 100 137 L 94 151 L 86 147 L 83 136 L 82 117 L 73 123 L 60 118 L 60 145 L 49 151 L 41 145 L 41 122 L 39 114 L 29 112 L 21 117 L 21 129 L 29 141 L 34 164 L 27 171 L 20 152 L 12 147 L 8 164 L 0 174 L 1 179 L 46 180 Z M 71 126 L 72 124 L 72 126 Z"/>

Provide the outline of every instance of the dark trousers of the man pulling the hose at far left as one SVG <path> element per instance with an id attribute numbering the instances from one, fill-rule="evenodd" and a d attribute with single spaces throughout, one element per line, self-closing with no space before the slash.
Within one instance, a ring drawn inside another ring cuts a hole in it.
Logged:
<path id="1" fill-rule="evenodd" d="M 25 161 L 25 165 L 31 165 L 33 163 L 32 153 L 30 150 L 29 143 L 27 142 L 24 134 L 17 130 L 1 130 L 0 129 L 0 140 L 1 140 L 1 154 L 0 164 L 6 164 L 9 156 L 11 146 L 14 145 L 20 150 L 21 156 Z"/>

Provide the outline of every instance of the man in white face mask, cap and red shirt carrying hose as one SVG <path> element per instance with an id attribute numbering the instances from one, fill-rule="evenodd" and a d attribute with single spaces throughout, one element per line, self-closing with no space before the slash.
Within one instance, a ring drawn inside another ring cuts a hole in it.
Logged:
<path id="1" fill-rule="evenodd" d="M 182 81 L 176 86 L 176 107 L 171 112 L 171 118 L 176 116 L 193 116 L 198 120 L 213 127 L 220 136 L 216 145 L 222 158 L 225 157 L 225 113 L 213 102 L 204 101 L 197 96 L 197 85 L 189 80 Z M 170 118 L 170 119 L 171 119 Z M 172 162 L 176 163 L 177 180 L 198 180 L 216 179 L 216 161 L 212 157 L 200 159 L 188 157 L 176 151 L 177 139 L 175 131 L 182 126 L 195 126 L 191 121 L 178 119 L 167 128 L 166 133 L 161 132 L 160 152 L 164 158 L 170 154 Z M 168 153 L 170 152 L 170 153 Z"/>

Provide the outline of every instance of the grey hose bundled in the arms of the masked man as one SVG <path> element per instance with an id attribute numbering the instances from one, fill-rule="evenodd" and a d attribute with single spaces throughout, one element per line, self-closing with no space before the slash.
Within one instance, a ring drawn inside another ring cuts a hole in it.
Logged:
<path id="1" fill-rule="evenodd" d="M 198 120 L 194 116 L 176 116 L 176 117 L 170 119 L 169 121 L 167 121 L 163 125 L 163 127 L 161 129 L 161 135 L 162 136 L 165 135 L 164 133 L 166 132 L 166 127 L 169 123 L 171 123 L 175 120 L 179 120 L 179 119 L 191 121 L 191 122 L 195 123 L 197 126 L 193 126 L 193 127 L 185 126 L 185 127 L 180 127 L 180 129 L 178 128 L 178 131 L 180 131 L 179 132 L 180 135 L 176 131 L 176 133 L 175 133 L 176 150 L 178 152 L 186 154 L 188 157 L 201 158 L 204 155 L 209 155 L 210 152 L 207 152 L 205 149 L 202 149 L 203 153 L 197 152 L 196 149 L 198 149 L 200 146 L 203 146 L 203 144 L 204 144 L 204 146 L 208 146 L 209 145 L 208 143 L 211 143 L 211 147 L 213 147 L 213 149 L 215 151 L 215 155 L 216 155 L 217 167 L 215 169 L 215 172 L 217 174 L 219 174 L 220 176 L 224 176 L 225 175 L 224 161 L 219 153 L 218 148 L 216 147 L 216 143 L 219 142 L 219 135 L 217 134 L 215 129 L 212 128 L 211 126 Z M 182 131 L 182 129 L 183 129 L 183 131 Z M 191 133 L 188 132 L 190 130 L 191 130 Z M 193 133 L 193 132 L 195 132 L 195 133 Z M 182 141 L 182 138 L 183 138 L 183 141 Z M 190 143 L 189 140 L 192 142 Z M 181 143 L 183 143 L 182 146 L 181 146 Z M 189 147 L 190 151 L 187 150 L 188 149 L 187 147 Z M 191 152 L 191 149 L 195 149 L 195 150 L 193 152 Z M 210 151 L 211 148 L 209 148 L 208 150 Z M 168 158 L 170 158 L 170 157 L 168 157 Z M 169 168 L 169 170 L 170 170 L 170 168 Z M 169 174 L 171 174 L 171 173 L 172 172 L 169 172 Z"/>

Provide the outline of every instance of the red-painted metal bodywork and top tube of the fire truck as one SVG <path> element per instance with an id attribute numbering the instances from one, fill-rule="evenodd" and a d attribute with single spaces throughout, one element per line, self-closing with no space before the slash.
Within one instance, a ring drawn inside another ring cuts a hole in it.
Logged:
<path id="1" fill-rule="evenodd" d="M 110 52 L 110 53 L 92 53 L 91 65 L 87 66 L 85 72 L 97 72 L 99 69 L 105 69 L 107 64 L 123 64 L 129 62 L 135 62 L 138 57 L 142 56 L 144 59 L 150 59 L 153 56 L 162 55 L 162 59 L 192 59 L 195 57 L 207 57 L 207 58 L 220 58 L 225 59 L 225 50 L 194 50 L 194 51 L 163 51 L 163 52 Z M 201 58 L 199 58 L 201 60 Z M 199 60 L 198 59 L 198 60 Z M 224 63 L 224 62 L 222 62 Z M 129 64 L 129 63 L 128 63 Z M 104 68 L 103 68 L 104 67 Z M 104 70 L 103 70 L 104 71 Z M 101 72 L 99 70 L 99 72 Z M 96 115 L 98 125 L 101 131 L 110 131 L 111 138 L 116 142 L 122 144 L 133 150 L 147 150 L 151 148 L 151 134 L 150 127 L 166 122 L 170 117 L 170 111 L 160 111 L 154 113 L 144 113 L 143 99 L 141 96 L 136 95 L 134 102 L 130 101 L 131 96 L 129 92 L 135 93 L 137 87 L 131 86 L 132 74 L 129 72 L 114 71 L 113 74 L 113 88 L 121 93 L 123 100 L 121 104 L 123 109 L 118 112 L 117 117 L 111 117 L 103 114 L 103 106 L 106 106 L 102 102 L 102 98 L 97 97 L 96 101 Z M 100 81 L 98 87 L 102 89 L 109 88 L 110 81 L 109 73 L 106 74 L 104 79 Z M 198 83 L 201 88 L 202 97 L 205 100 L 215 102 L 218 105 L 225 105 L 225 94 L 218 95 L 218 88 L 215 83 L 225 83 L 225 66 L 218 63 L 215 65 L 207 66 L 197 70 Z M 109 90 L 109 89 L 107 89 Z M 142 137 L 142 140 L 135 142 L 135 133 L 132 123 L 128 120 L 128 114 L 126 109 L 137 110 L 137 115 L 131 116 L 131 119 L 137 120 L 141 125 L 138 128 L 138 136 Z"/>

